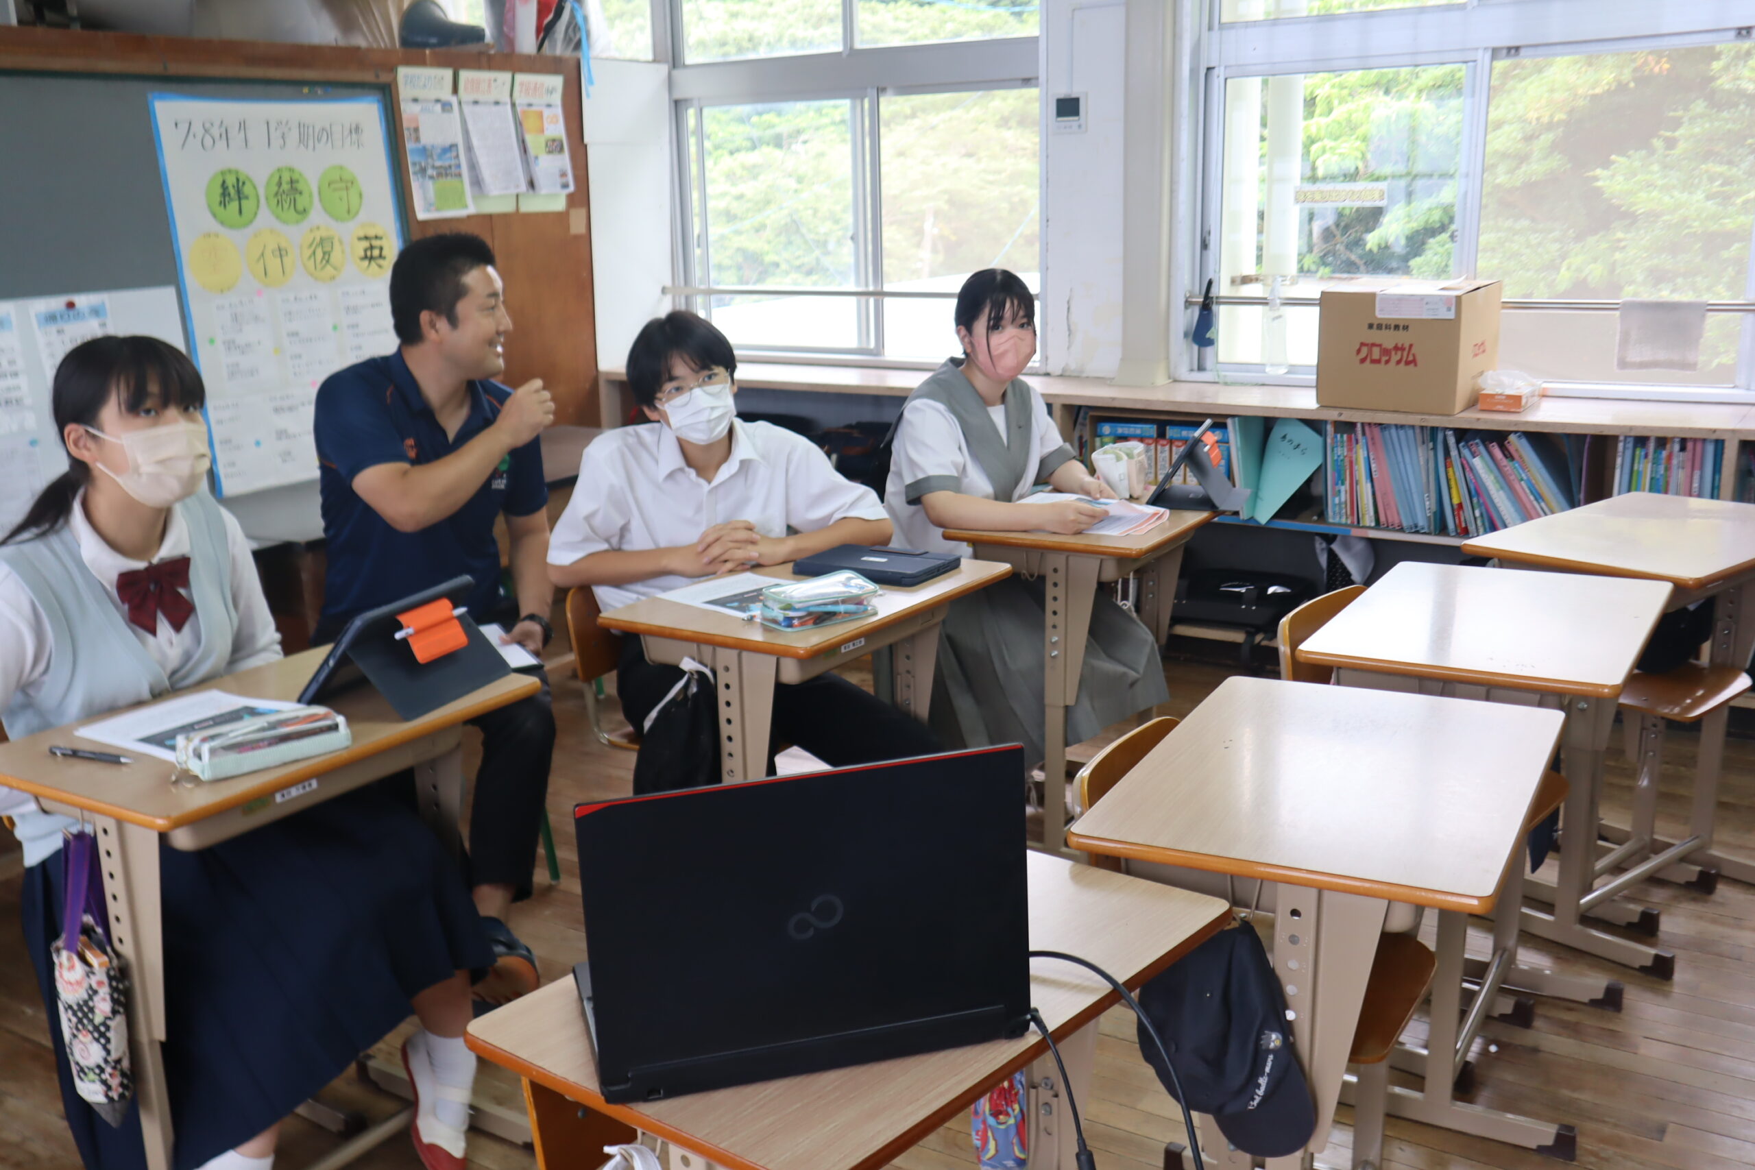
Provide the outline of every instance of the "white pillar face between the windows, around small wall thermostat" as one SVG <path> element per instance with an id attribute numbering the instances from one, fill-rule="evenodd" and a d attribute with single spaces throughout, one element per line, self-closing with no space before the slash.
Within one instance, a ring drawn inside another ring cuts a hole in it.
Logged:
<path id="1" fill-rule="evenodd" d="M 1042 5 L 1042 358 L 1113 377 L 1121 358 L 1123 0 Z M 1055 95 L 1085 95 L 1085 132 L 1053 130 Z"/>

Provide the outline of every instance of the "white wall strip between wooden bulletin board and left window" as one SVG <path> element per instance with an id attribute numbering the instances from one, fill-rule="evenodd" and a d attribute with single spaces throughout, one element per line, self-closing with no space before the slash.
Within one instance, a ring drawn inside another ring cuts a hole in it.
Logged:
<path id="1" fill-rule="evenodd" d="M 670 95 L 667 65 L 593 60 L 584 100 L 591 184 L 597 363 L 620 367 L 641 326 L 669 312 Z"/>

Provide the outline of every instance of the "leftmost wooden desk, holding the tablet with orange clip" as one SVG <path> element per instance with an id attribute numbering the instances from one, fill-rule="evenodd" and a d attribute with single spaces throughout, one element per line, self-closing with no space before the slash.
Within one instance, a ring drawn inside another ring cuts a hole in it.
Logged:
<path id="1" fill-rule="evenodd" d="M 295 700 L 328 647 L 305 651 L 263 667 L 212 679 L 190 691 L 223 689 L 246 698 Z M 279 821 L 318 802 L 363 784 L 416 770 L 421 812 L 451 835 L 463 802 L 460 724 L 497 707 L 535 695 L 535 679 L 507 675 L 474 695 L 404 723 L 372 688 L 347 691 L 330 703 L 347 716 L 353 746 L 251 772 L 211 784 L 172 786 L 174 765 L 135 753 L 133 763 L 112 765 L 61 760 L 51 744 L 102 747 L 74 735 L 79 724 L 39 731 L 0 746 L 0 784 L 26 791 L 51 812 L 91 821 L 104 863 L 104 891 L 111 902 L 111 940 L 128 963 L 133 988 L 128 1000 L 130 1054 L 135 1095 L 140 1098 L 140 1133 L 149 1170 L 170 1170 L 172 1128 L 165 1102 L 165 967 L 158 903 L 158 844 L 205 849 L 249 830 Z M 184 691 L 188 693 L 188 691 Z M 377 1140 L 393 1130 L 374 1126 L 363 1137 Z M 355 1147 L 363 1152 L 365 1145 Z M 340 1152 L 340 1151 L 337 1151 Z"/>

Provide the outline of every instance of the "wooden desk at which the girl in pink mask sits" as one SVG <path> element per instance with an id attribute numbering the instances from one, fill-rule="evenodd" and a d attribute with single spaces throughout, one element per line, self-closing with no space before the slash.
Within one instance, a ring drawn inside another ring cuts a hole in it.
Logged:
<path id="1" fill-rule="evenodd" d="M 1062 537 L 1051 531 L 976 531 L 946 528 L 946 540 L 974 546 L 976 556 L 1006 561 L 1041 577 L 1042 593 L 1042 849 L 1065 853 L 1067 707 L 1079 698 L 1085 640 L 1097 582 L 1139 574 L 1139 619 L 1162 647 L 1171 631 L 1183 546 L 1214 512 L 1171 512 L 1169 521 L 1137 537 Z"/>

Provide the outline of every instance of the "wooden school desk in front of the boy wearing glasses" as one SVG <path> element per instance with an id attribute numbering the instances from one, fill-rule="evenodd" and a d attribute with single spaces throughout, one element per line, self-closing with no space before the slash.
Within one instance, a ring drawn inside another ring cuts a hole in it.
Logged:
<path id="1" fill-rule="evenodd" d="M 755 572 L 776 581 L 806 581 L 792 565 Z M 932 668 L 939 660 L 939 623 L 951 602 L 1009 575 L 1009 565 L 965 560 L 927 584 L 883 586 L 876 617 L 807 630 L 769 630 L 753 617 L 744 621 L 663 596 L 618 605 L 598 617 L 598 624 L 641 635 L 646 661 L 677 667 L 693 658 L 713 672 L 725 716 L 721 777 L 732 784 L 767 775 L 776 682 L 814 679 L 885 646 L 895 646 L 895 705 L 925 719 Z"/>

